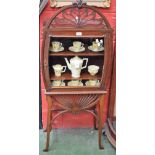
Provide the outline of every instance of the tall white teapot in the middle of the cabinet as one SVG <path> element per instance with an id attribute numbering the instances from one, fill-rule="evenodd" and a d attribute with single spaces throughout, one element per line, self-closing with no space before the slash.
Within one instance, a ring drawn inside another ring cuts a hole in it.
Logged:
<path id="1" fill-rule="evenodd" d="M 65 61 L 67 63 L 68 68 L 70 69 L 72 73 L 73 78 L 79 78 L 81 70 L 87 67 L 88 58 L 79 58 L 78 56 L 75 56 L 70 59 L 70 63 L 67 58 L 65 58 Z M 85 66 L 82 67 L 83 62 L 86 61 Z"/>

